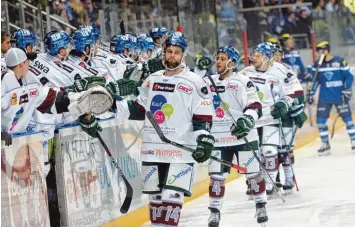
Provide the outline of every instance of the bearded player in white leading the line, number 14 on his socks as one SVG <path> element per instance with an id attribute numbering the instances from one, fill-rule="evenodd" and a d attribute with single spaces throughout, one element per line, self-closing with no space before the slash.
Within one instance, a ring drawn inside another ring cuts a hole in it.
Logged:
<path id="1" fill-rule="evenodd" d="M 144 120 L 154 114 L 168 138 L 196 147 L 189 152 L 163 143 L 145 119 L 141 151 L 143 193 L 149 194 L 152 226 L 177 226 L 185 196 L 191 196 L 194 160 L 206 161 L 212 152 L 213 107 L 203 79 L 182 68 L 188 41 L 172 32 L 163 48 L 165 70 L 150 75 L 138 98 L 116 102 L 118 118 Z"/>

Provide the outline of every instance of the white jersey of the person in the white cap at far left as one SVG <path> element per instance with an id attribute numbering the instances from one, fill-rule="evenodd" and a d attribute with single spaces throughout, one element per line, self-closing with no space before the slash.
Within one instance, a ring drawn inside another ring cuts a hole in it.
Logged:
<path id="1" fill-rule="evenodd" d="M 36 110 L 45 112 L 50 109 L 56 113 L 56 90 L 42 86 L 29 73 L 20 80 L 10 69 L 1 75 L 1 129 L 11 133 L 26 132 L 27 126 Z"/>

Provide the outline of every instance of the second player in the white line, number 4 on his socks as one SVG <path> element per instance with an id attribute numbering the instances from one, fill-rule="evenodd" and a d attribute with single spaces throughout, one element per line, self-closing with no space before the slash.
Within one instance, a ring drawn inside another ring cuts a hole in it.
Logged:
<path id="1" fill-rule="evenodd" d="M 217 90 L 222 100 L 217 95 L 213 96 L 213 106 L 216 115 L 213 118 L 211 134 L 216 143 L 212 155 L 226 161 L 233 161 L 234 155 L 238 164 L 248 169 L 246 177 L 251 183 L 252 195 L 256 203 L 256 218 L 258 223 L 268 221 L 266 214 L 265 180 L 261 174 L 260 166 L 254 158 L 244 137 L 250 142 L 250 146 L 258 151 L 258 133 L 254 128 L 255 122 L 262 114 L 260 99 L 257 95 L 254 83 L 245 75 L 233 72 L 239 62 L 238 51 L 231 46 L 218 49 L 216 55 L 217 75 L 211 76 L 217 88 L 206 79 L 212 94 Z M 230 113 L 236 120 L 236 125 L 225 110 L 229 107 Z M 231 136 L 232 131 L 232 136 Z M 209 210 L 208 226 L 218 227 L 221 219 L 221 208 L 225 193 L 225 180 L 230 168 L 215 161 L 209 164 Z"/>

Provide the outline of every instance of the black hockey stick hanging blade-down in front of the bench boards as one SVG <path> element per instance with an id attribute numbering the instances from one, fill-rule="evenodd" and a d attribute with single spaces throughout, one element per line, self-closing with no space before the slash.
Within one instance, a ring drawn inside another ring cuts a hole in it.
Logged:
<path id="1" fill-rule="evenodd" d="M 91 114 L 88 114 L 88 119 L 91 118 Z M 122 169 L 120 168 L 120 166 L 118 165 L 118 163 L 116 162 L 115 158 L 112 156 L 109 148 L 107 147 L 106 143 L 104 142 L 104 140 L 102 139 L 101 135 L 99 132 L 96 132 L 96 137 L 99 139 L 101 145 L 104 147 L 106 154 L 110 157 L 111 162 L 113 163 L 113 165 L 116 167 L 117 172 L 121 175 L 125 185 L 126 185 L 126 197 L 123 201 L 123 204 L 121 206 L 120 212 L 122 214 L 126 214 L 129 210 L 129 207 L 131 206 L 131 202 L 132 202 L 132 198 L 133 198 L 133 188 L 132 185 L 128 182 L 127 178 L 125 177 Z"/>

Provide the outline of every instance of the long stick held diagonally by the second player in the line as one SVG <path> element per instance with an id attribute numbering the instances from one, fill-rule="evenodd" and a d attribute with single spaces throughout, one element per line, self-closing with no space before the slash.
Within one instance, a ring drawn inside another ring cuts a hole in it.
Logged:
<path id="1" fill-rule="evenodd" d="M 209 76 L 209 75 L 207 75 L 206 77 L 207 77 L 208 80 L 210 80 L 210 82 L 212 83 L 212 86 L 213 86 L 213 88 L 214 88 L 214 90 L 215 90 L 215 92 L 216 92 L 216 94 L 217 94 L 217 97 L 218 97 L 219 101 L 220 101 L 221 104 L 223 105 L 223 108 L 226 110 L 226 112 L 228 113 L 228 115 L 230 116 L 230 118 L 232 119 L 232 121 L 234 122 L 234 124 L 237 125 L 237 122 L 236 122 L 235 119 L 233 118 L 232 113 L 229 111 L 229 108 L 227 107 L 227 105 L 225 105 L 225 103 L 223 102 L 221 96 L 219 95 L 219 92 L 218 92 L 218 90 L 217 90 L 217 86 L 216 86 L 216 84 L 214 83 L 213 79 L 212 79 L 211 76 Z M 247 139 L 246 137 L 244 137 L 243 139 L 244 139 L 244 141 L 245 141 L 247 147 L 249 147 L 249 149 L 250 149 L 251 152 L 253 153 L 253 156 L 255 157 L 255 159 L 258 161 L 258 163 L 259 163 L 261 169 L 263 170 L 263 172 L 266 173 L 267 177 L 269 178 L 269 180 L 270 180 L 270 181 L 272 182 L 272 184 L 274 185 L 274 188 L 277 190 L 277 195 L 280 197 L 280 199 L 282 200 L 282 202 L 286 203 L 285 198 L 281 195 L 281 192 L 278 191 L 279 188 L 276 186 L 276 184 L 275 184 L 274 180 L 271 178 L 270 174 L 266 171 L 266 169 L 265 169 L 263 163 L 261 162 L 261 160 L 260 160 L 258 154 L 257 154 L 257 153 L 255 152 L 255 150 L 251 147 L 251 145 L 250 145 L 248 139 Z"/>

